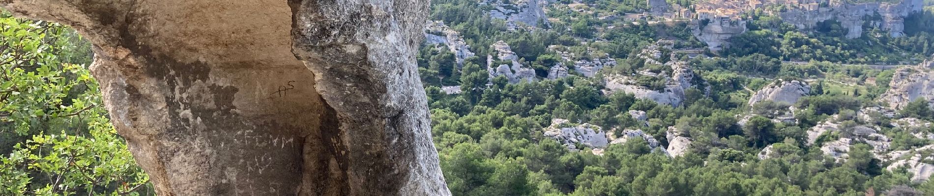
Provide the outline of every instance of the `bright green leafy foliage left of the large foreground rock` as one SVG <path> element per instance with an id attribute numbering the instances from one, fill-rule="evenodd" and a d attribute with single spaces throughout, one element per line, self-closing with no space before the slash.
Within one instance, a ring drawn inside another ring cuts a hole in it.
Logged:
<path id="1" fill-rule="evenodd" d="M 153 195 L 106 117 L 87 41 L 0 13 L 0 195 Z"/>

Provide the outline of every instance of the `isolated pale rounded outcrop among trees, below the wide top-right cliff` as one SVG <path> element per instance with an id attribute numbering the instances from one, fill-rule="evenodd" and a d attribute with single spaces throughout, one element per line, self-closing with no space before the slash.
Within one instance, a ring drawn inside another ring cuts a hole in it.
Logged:
<path id="1" fill-rule="evenodd" d="M 798 102 L 798 99 L 808 96 L 811 94 L 811 85 L 803 83 L 797 80 L 793 81 L 779 81 L 771 85 L 767 85 L 753 94 L 752 98 L 749 98 L 749 106 L 753 106 L 758 102 L 764 100 L 771 100 L 775 103 L 783 103 L 787 105 L 793 105 Z"/>

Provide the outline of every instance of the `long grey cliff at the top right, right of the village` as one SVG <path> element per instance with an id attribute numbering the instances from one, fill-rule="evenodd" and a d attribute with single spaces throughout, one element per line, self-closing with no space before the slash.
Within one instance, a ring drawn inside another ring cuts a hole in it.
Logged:
<path id="1" fill-rule="evenodd" d="M 863 33 L 863 19 L 876 16 L 878 13 L 881 19 L 874 19 L 871 23 L 876 27 L 888 31 L 891 36 L 901 36 L 905 29 L 904 19 L 909 14 L 921 11 L 924 7 L 923 1 L 905 0 L 898 4 L 885 2 L 870 3 L 838 3 L 831 1 L 830 7 L 813 7 L 789 9 L 782 12 L 779 16 L 782 20 L 794 24 L 799 29 L 814 29 L 817 22 L 825 20 L 839 20 L 841 26 L 849 30 L 846 33 L 847 38 L 858 38 Z"/>

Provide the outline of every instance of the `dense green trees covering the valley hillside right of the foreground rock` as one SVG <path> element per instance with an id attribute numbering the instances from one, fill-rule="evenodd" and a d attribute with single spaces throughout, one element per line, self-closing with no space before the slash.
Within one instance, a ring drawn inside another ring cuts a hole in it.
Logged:
<path id="1" fill-rule="evenodd" d="M 434 1 L 433 7 L 461 7 L 455 5 L 467 4 L 463 2 L 466 1 Z M 625 1 L 619 3 L 621 8 L 616 8 L 617 11 L 644 8 L 625 7 Z M 488 54 L 489 43 L 497 40 L 512 44 L 528 39 L 524 37 L 530 34 L 550 34 L 559 38 L 547 45 L 594 47 L 610 58 L 622 59 L 610 72 L 627 75 L 646 68 L 665 69 L 646 67 L 642 60 L 633 57 L 659 38 L 680 40 L 676 48 L 700 46 L 689 44 L 695 40 L 684 26 L 642 24 L 603 28 L 613 23 L 594 16 L 603 16 L 601 11 L 614 8 L 598 5 L 601 6 L 587 8 L 597 13 L 592 15 L 558 11 L 553 17 L 559 20 L 552 22 L 550 30 L 465 34 L 470 34 L 467 37 L 471 46 L 482 51 L 478 54 Z M 474 13 L 469 9 L 460 11 Z M 435 9 L 432 20 L 452 21 L 447 19 L 471 16 L 453 20 L 458 31 L 468 32 L 476 29 L 458 23 L 489 21 L 482 14 L 457 13 Z M 907 22 L 920 21 L 909 20 Z M 771 22 L 781 24 L 781 21 Z M 710 85 L 711 92 L 704 96 L 701 89 L 690 88 L 686 94 L 697 96 L 687 96 L 686 104 L 678 107 L 623 93 L 604 95 L 599 91 L 603 88 L 599 77 L 571 76 L 520 84 L 508 84 L 501 77 L 491 79 L 491 85 L 486 85 L 486 63 L 477 59 L 467 60 L 460 72 L 460 81 L 444 84 L 461 85 L 463 94 L 446 95 L 440 86 L 432 86 L 438 83 L 426 82 L 432 108 L 432 134 L 449 188 L 455 195 L 865 195 L 867 191 L 898 195 L 897 192 L 934 192 L 934 183 L 915 184 L 905 171 L 889 172 L 881 168 L 868 145 L 854 146 L 849 152 L 850 158 L 844 162 L 834 162 L 818 145 L 804 145 L 805 131 L 835 114 L 844 116 L 841 120 L 846 126 L 882 125 L 881 133 L 892 137 L 894 149 L 927 145 L 926 140 L 883 123 L 887 122 L 885 118 L 880 118 L 880 122 L 858 122 L 852 117 L 854 111 L 877 104 L 874 99 L 887 89 L 892 71 L 838 63 L 897 63 L 909 60 L 906 57 L 920 58 L 930 54 L 926 46 L 908 43 L 921 43 L 918 40 L 927 39 L 931 31 L 906 31 L 907 36 L 893 39 L 874 36 L 881 32 L 869 30 L 867 37 L 871 38 L 847 40 L 840 34 L 845 31 L 840 32 L 839 24 L 832 21 L 822 24 L 828 27 L 822 26 L 815 33 L 803 33 L 787 25 L 770 28 L 766 21 L 754 23 L 759 25 L 757 30 L 734 38 L 739 46 L 719 54 L 729 58 L 689 60 L 698 77 Z M 785 27 L 785 30 L 778 27 Z M 556 31 L 563 29 L 569 31 Z M 686 33 L 672 33 L 682 29 L 686 29 Z M 610 42 L 589 41 L 592 39 Z M 520 47 L 513 46 L 517 55 L 530 64 L 535 63 L 530 60 L 532 57 L 550 59 L 548 50 L 517 49 Z M 916 55 L 900 56 L 896 51 Z M 421 56 L 422 59 L 434 57 L 437 54 Z M 783 63 L 792 60 L 810 62 Z M 421 62 L 423 72 L 436 72 L 431 63 L 443 62 Z M 793 104 L 800 109 L 794 116 L 799 123 L 771 121 L 773 111 L 787 110 L 789 105 L 768 101 L 755 107 L 746 106 L 750 90 L 770 85 L 773 82 L 770 78 L 806 80 L 814 87 L 812 97 Z M 874 83 L 867 83 L 870 78 Z M 651 82 L 643 85 L 651 86 Z M 633 120 L 626 112 L 630 110 L 647 111 L 650 125 Z M 743 126 L 737 125 L 736 116 L 750 112 L 760 115 Z M 903 112 L 906 117 L 930 118 L 931 115 L 931 111 Z M 601 125 L 604 130 L 616 128 L 616 132 L 641 129 L 666 145 L 665 131 L 673 126 L 685 130 L 695 142 L 689 153 L 677 158 L 652 151 L 639 139 L 611 145 L 598 156 L 579 146 L 580 151 L 568 150 L 556 140 L 544 137 L 543 127 L 548 126 L 552 118 Z M 822 141 L 830 137 L 833 136 Z M 757 159 L 757 153 L 770 144 L 779 158 Z"/>

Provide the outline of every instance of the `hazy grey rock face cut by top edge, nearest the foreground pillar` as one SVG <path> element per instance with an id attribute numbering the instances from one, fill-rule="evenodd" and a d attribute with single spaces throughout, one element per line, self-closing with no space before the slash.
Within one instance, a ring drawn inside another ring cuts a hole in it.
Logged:
<path id="1" fill-rule="evenodd" d="M 489 5 L 494 7 L 488 10 L 489 17 L 493 19 L 507 20 L 513 25 L 518 22 L 531 26 L 538 26 L 540 22 L 547 22 L 545 16 L 545 1 L 543 0 L 511 0 L 509 4 L 502 3 L 502 0 L 481 0 L 480 5 Z M 515 27 L 515 26 L 514 26 Z"/>

